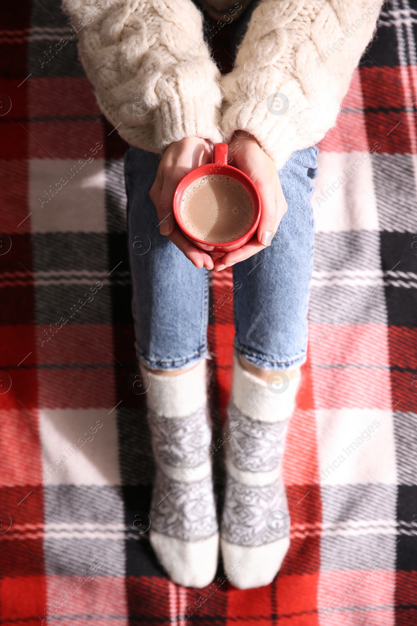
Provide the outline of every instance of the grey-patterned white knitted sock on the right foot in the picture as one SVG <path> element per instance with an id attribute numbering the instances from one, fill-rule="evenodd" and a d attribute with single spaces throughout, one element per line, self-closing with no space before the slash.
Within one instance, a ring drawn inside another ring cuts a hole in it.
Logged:
<path id="1" fill-rule="evenodd" d="M 225 571 L 234 572 L 231 584 L 239 589 L 269 585 L 289 547 L 281 458 L 298 383 L 299 375 L 274 393 L 235 359 L 228 412 L 229 423 L 241 426 L 226 448 L 220 545 Z"/>

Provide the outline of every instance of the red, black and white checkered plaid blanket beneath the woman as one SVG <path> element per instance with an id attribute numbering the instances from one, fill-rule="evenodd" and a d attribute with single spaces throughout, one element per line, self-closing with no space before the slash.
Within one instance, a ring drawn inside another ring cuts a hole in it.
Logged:
<path id="1" fill-rule="evenodd" d="M 273 584 L 247 591 L 221 568 L 210 588 L 178 587 L 149 547 L 127 146 L 58 0 L 1 11 L 1 622 L 417 624 L 416 1 L 384 7 L 320 145 L 309 354 L 284 458 L 291 548 Z M 213 276 L 213 302 L 229 285 Z M 216 428 L 233 334 L 224 304 L 209 326 Z M 221 496 L 220 461 L 215 475 Z"/>

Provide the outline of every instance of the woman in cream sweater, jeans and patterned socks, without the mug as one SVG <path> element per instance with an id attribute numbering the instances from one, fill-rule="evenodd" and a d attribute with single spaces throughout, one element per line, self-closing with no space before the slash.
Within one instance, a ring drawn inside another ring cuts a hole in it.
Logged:
<path id="1" fill-rule="evenodd" d="M 192 587 L 213 580 L 220 543 L 231 582 L 249 588 L 273 580 L 289 546 L 281 458 L 306 359 L 314 144 L 336 122 L 380 2 L 200 5 L 218 29 L 248 23 L 223 79 L 191 0 L 64 0 L 99 106 L 133 146 L 125 158 L 133 314 L 157 464 L 150 540 L 168 575 Z M 185 239 L 172 200 L 223 140 L 258 188 L 262 214 L 248 244 L 214 259 Z M 146 254 L 139 240 L 150 244 Z M 231 265 L 236 359 L 219 530 L 206 410 L 208 270 Z"/>

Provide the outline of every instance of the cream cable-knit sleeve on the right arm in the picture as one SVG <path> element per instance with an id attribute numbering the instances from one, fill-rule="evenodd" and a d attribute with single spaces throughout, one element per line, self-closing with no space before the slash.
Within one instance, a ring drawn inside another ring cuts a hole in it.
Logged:
<path id="1" fill-rule="evenodd" d="M 334 126 L 381 2 L 264 0 L 224 76 L 223 131 L 256 137 L 280 169 Z"/>

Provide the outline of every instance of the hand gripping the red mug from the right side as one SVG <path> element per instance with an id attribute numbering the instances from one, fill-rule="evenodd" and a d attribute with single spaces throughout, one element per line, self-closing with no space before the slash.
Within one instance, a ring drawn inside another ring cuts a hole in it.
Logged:
<path id="1" fill-rule="evenodd" d="M 248 133 L 236 131 L 229 143 L 229 155 L 232 161 L 228 165 L 238 168 L 248 176 L 261 197 L 261 219 L 256 234 L 238 250 L 226 252 L 223 257 L 214 261 L 214 271 L 219 272 L 225 267 L 249 259 L 256 252 L 271 245 L 272 239 L 287 210 L 281 182 L 273 160 L 259 146 L 258 141 Z"/>

